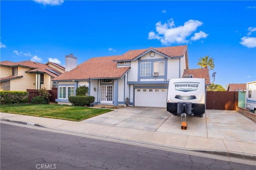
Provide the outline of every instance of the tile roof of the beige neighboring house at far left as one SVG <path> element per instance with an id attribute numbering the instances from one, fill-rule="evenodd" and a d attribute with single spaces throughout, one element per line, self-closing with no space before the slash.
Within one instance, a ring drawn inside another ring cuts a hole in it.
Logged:
<path id="1" fill-rule="evenodd" d="M 57 75 L 47 69 L 51 69 L 51 70 L 54 70 L 54 71 L 60 73 L 58 70 L 55 70 L 52 67 L 49 67 L 48 65 L 45 65 L 42 63 L 36 63 L 34 61 L 28 61 L 28 60 L 27 61 L 19 61 L 19 62 L 0 61 L 0 65 L 5 65 L 5 66 L 9 66 L 9 67 L 15 67 L 15 66 L 28 67 L 28 68 L 31 68 L 31 70 L 26 71 L 26 73 L 40 72 L 40 73 L 46 73 L 46 74 L 50 75 L 51 77 L 57 77 Z"/>

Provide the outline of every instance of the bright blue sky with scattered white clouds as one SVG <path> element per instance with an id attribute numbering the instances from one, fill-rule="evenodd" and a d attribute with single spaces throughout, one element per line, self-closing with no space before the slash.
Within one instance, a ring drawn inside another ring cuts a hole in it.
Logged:
<path id="1" fill-rule="evenodd" d="M 1 61 L 78 64 L 130 49 L 188 45 L 214 59 L 214 83 L 256 80 L 256 1 L 0 1 Z M 213 81 L 213 80 L 212 80 Z"/>

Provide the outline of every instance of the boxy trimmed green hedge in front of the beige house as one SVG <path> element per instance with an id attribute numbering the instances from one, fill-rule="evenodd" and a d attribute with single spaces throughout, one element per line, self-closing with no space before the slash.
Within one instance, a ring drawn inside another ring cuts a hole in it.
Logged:
<path id="1" fill-rule="evenodd" d="M 28 103 L 27 91 L 0 91 L 1 104 Z"/>

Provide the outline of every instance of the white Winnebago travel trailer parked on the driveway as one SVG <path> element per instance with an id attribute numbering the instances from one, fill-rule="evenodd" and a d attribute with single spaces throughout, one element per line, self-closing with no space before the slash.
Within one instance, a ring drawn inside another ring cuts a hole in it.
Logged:
<path id="1" fill-rule="evenodd" d="M 185 110 L 186 115 L 203 117 L 206 106 L 205 94 L 205 79 L 170 79 L 167 93 L 167 111 L 173 115 L 181 115 Z"/>

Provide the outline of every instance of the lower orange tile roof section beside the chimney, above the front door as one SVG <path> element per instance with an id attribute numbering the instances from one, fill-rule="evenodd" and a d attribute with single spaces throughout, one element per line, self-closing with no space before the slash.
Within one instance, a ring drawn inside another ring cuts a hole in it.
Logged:
<path id="1" fill-rule="evenodd" d="M 71 71 L 62 73 L 53 80 L 88 80 L 98 78 L 121 78 L 130 67 L 117 67 L 113 59 L 118 57 L 94 57 L 81 63 Z"/>

